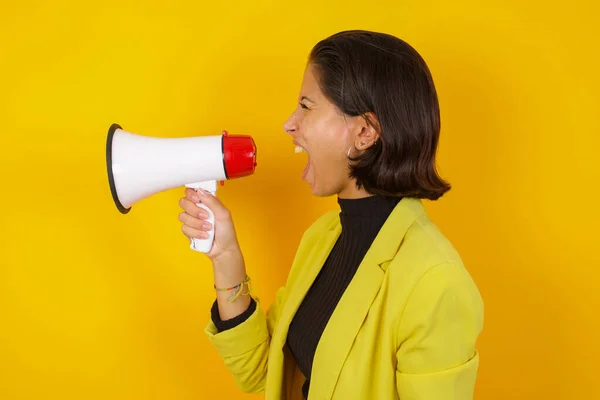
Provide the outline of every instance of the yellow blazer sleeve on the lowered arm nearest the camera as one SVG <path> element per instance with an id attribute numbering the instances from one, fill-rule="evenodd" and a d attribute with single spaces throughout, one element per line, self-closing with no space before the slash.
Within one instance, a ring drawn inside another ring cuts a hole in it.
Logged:
<path id="1" fill-rule="evenodd" d="M 444 262 L 418 281 L 401 317 L 396 384 L 402 400 L 472 400 L 483 301 L 461 263 Z"/>

